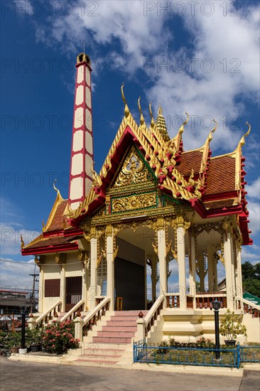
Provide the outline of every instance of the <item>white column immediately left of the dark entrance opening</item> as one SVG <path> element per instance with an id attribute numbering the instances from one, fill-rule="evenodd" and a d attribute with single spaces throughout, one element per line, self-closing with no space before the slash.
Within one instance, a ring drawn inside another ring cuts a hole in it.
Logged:
<path id="1" fill-rule="evenodd" d="M 109 229 L 110 230 L 110 229 Z M 110 297 L 109 310 L 114 311 L 114 238 L 113 232 L 107 234 L 107 296 Z"/>

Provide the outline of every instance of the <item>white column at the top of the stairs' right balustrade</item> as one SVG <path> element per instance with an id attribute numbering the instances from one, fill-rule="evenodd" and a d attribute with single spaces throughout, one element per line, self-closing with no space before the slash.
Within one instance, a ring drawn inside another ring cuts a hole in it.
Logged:
<path id="1" fill-rule="evenodd" d="M 167 286 L 167 265 L 166 265 L 166 230 L 161 228 L 157 231 L 158 259 L 160 273 L 160 294 L 168 292 Z"/>

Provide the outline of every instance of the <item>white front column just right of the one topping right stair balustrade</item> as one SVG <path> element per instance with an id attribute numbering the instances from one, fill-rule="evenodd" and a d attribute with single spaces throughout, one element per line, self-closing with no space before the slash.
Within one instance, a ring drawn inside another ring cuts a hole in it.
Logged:
<path id="1" fill-rule="evenodd" d="M 186 309 L 185 229 L 177 227 L 177 256 L 179 269 L 180 309 Z"/>

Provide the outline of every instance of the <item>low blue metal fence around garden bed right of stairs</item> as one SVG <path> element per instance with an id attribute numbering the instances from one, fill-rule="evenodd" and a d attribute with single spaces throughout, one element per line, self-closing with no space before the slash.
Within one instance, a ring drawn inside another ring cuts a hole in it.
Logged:
<path id="1" fill-rule="evenodd" d="M 154 346 L 145 341 L 138 341 L 134 343 L 134 363 L 239 368 L 242 362 L 259 362 L 259 354 L 252 355 L 254 348 L 259 349 L 260 346 L 245 347 L 238 344 L 232 348 L 217 350 L 215 348 Z"/>

